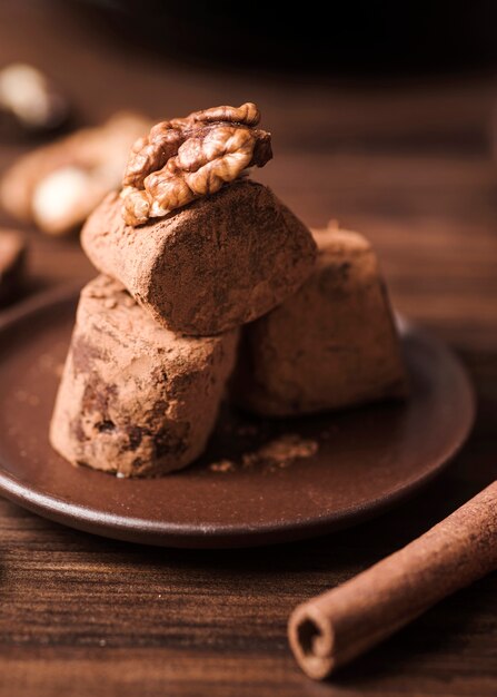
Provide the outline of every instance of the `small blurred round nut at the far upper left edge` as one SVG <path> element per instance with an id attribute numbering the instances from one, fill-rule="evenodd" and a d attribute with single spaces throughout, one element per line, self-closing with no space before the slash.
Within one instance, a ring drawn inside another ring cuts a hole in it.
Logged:
<path id="1" fill-rule="evenodd" d="M 43 135 L 66 125 L 67 97 L 46 75 L 26 63 L 0 70 L 0 125 L 9 137 Z"/>

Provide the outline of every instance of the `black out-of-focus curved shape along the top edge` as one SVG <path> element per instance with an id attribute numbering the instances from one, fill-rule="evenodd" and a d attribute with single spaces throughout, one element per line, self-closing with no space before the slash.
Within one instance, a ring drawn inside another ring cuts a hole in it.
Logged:
<path id="1" fill-rule="evenodd" d="M 486 68 L 497 59 L 491 0 L 76 4 L 129 48 L 230 67 L 401 75 Z"/>

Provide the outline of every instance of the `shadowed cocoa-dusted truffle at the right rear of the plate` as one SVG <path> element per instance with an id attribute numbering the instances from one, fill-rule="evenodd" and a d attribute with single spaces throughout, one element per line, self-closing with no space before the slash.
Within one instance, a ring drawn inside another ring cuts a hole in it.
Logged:
<path id="1" fill-rule="evenodd" d="M 314 275 L 243 331 L 233 397 L 258 414 L 341 409 L 406 390 L 399 341 L 369 243 L 338 229 L 316 238 Z"/>

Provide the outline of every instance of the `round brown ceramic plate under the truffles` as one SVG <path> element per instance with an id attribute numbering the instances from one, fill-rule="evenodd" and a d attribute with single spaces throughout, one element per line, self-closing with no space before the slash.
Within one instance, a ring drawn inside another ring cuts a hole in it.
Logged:
<path id="1" fill-rule="evenodd" d="M 286 422 L 225 410 L 206 455 L 179 473 L 130 481 L 77 469 L 47 438 L 76 297 L 46 296 L 0 323 L 0 492 L 73 528 L 193 548 L 310 537 L 374 516 L 425 484 L 474 420 L 471 387 L 457 359 L 402 322 L 412 386 L 406 404 Z M 242 464 L 243 454 L 287 433 L 316 442 L 317 453 L 287 464 Z M 236 465 L 217 471 L 212 463 L 221 460 Z"/>

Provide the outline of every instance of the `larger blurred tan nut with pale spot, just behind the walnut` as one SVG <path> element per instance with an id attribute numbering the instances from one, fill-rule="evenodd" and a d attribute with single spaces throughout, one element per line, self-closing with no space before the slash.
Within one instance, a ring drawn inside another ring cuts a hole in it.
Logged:
<path id="1" fill-rule="evenodd" d="M 69 233 L 120 186 L 130 148 L 150 125 L 120 112 L 20 157 L 0 184 L 2 207 L 50 235 Z"/>

